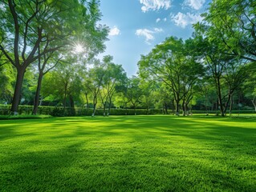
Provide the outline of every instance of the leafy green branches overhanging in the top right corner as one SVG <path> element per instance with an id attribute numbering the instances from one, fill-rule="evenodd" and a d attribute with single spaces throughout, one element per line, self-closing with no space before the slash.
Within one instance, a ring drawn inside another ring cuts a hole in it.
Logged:
<path id="1" fill-rule="evenodd" d="M 220 41 L 226 54 L 256 62 L 255 7 L 253 0 L 213 0 L 203 14 L 205 34 Z"/>

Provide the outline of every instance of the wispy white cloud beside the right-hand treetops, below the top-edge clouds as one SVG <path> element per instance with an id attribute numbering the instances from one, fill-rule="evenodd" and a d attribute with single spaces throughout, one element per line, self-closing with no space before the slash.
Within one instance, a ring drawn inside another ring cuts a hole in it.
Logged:
<path id="1" fill-rule="evenodd" d="M 199 14 L 182 14 L 181 12 L 179 12 L 177 15 L 172 16 L 172 20 L 173 22 L 175 22 L 175 25 L 185 28 L 189 24 L 201 22 L 202 18 Z"/>

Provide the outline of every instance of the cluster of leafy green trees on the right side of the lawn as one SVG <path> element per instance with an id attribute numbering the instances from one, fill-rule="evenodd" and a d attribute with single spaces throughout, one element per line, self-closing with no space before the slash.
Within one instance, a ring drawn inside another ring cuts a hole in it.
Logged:
<path id="1" fill-rule="evenodd" d="M 228 107 L 231 113 L 234 96 L 241 91 L 255 107 L 255 14 L 254 1 L 213 0 L 203 22 L 193 26 L 192 38 L 166 38 L 141 56 L 141 77 L 172 91 L 176 114 L 180 106 L 185 113 L 199 92 L 205 94 L 205 106 L 216 96 L 221 116 Z"/>

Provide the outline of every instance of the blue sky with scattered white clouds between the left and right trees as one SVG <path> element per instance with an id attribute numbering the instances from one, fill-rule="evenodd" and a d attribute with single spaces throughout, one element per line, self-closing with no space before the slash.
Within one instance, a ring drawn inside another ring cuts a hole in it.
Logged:
<path id="1" fill-rule="evenodd" d="M 148 54 L 165 38 L 189 38 L 193 23 L 210 0 L 100 0 L 100 23 L 110 27 L 104 54 L 123 66 L 128 77 L 136 75 L 141 54 Z"/>

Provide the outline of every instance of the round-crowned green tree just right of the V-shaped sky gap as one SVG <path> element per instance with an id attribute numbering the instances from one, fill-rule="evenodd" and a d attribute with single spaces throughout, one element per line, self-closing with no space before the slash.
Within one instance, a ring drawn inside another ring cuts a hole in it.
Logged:
<path id="1" fill-rule="evenodd" d="M 201 63 L 186 50 L 187 43 L 189 41 L 167 38 L 147 56 L 141 56 L 138 63 L 142 77 L 151 76 L 160 80 L 173 91 L 177 115 L 180 114 L 181 100 L 185 110 L 185 103 L 191 99 L 191 90 L 202 74 Z"/>

